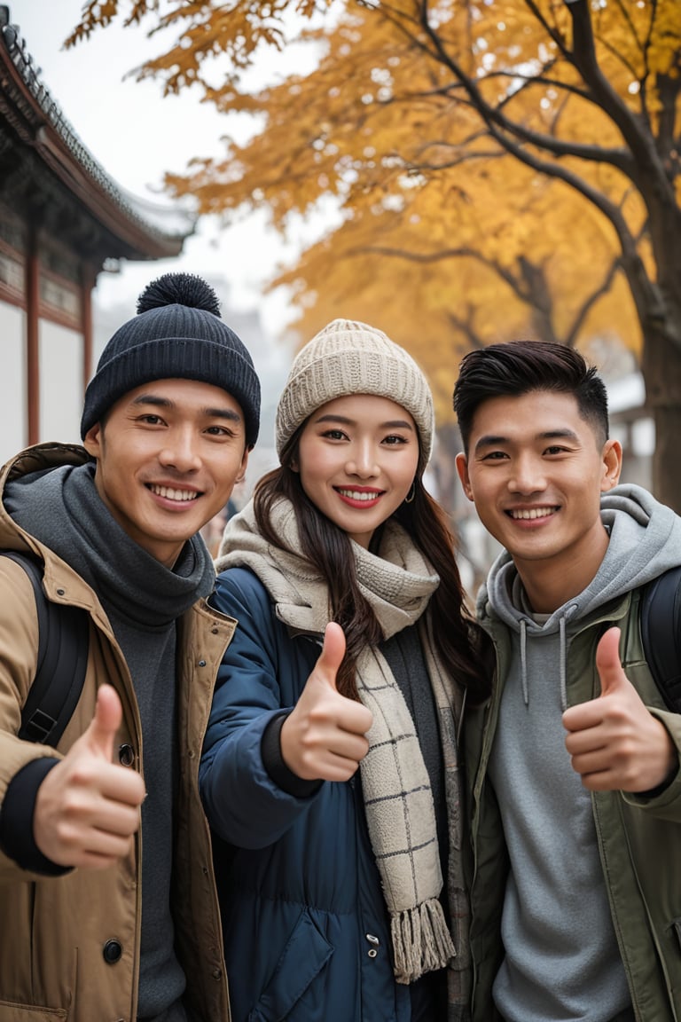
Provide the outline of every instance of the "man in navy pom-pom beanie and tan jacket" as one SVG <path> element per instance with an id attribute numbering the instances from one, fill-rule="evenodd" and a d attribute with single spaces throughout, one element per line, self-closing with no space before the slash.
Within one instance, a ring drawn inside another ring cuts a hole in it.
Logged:
<path id="1" fill-rule="evenodd" d="M 166 274 L 107 343 L 83 447 L 0 475 L 0 550 L 88 615 L 83 691 L 56 748 L 18 737 L 38 661 L 23 568 L 0 557 L 0 1019 L 229 1019 L 197 771 L 236 622 L 210 608 L 199 529 L 243 478 L 260 387 L 208 285 Z"/>

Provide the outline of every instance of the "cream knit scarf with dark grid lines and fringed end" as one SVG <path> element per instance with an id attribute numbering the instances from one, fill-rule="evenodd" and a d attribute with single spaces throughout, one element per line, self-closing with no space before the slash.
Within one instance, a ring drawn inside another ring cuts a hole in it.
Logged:
<path id="1" fill-rule="evenodd" d="M 319 569 L 299 553 L 295 514 L 284 498 L 273 509 L 273 526 L 280 538 L 276 548 L 260 536 L 249 504 L 228 523 L 216 569 L 250 568 L 270 593 L 281 621 L 297 632 L 321 636 L 330 620 L 328 588 Z M 414 721 L 385 657 L 380 650 L 367 647 L 357 661 L 356 684 L 374 724 L 368 734 L 369 752 L 360 764 L 361 789 L 390 917 L 395 979 L 411 983 L 448 965 L 448 1022 L 458 1022 L 467 1017 L 470 965 L 456 757 L 463 696 L 439 663 L 424 613 L 439 579 L 404 529 L 393 521 L 384 526 L 378 556 L 354 543 L 352 551 L 359 587 L 384 638 L 419 622 L 444 756 L 449 928 L 439 900 L 443 880 L 433 796 Z"/>

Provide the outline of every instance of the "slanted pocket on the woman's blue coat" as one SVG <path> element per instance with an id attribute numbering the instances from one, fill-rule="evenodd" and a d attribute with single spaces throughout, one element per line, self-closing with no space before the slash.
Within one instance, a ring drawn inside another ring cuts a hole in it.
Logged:
<path id="1" fill-rule="evenodd" d="M 248 1022 L 283 1022 L 288 1018 L 333 953 L 333 946 L 303 910 Z"/>

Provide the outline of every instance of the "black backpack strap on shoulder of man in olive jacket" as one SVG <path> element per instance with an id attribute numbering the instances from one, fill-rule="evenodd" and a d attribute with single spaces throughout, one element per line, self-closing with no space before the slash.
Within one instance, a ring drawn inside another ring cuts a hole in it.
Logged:
<path id="1" fill-rule="evenodd" d="M 681 713 L 681 565 L 665 571 L 645 588 L 641 639 L 667 706 Z"/>

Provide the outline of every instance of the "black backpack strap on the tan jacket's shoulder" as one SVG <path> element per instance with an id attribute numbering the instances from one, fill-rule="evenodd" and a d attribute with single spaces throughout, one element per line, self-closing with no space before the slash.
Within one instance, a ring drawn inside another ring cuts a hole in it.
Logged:
<path id="1" fill-rule="evenodd" d="M 21 711 L 18 737 L 56 746 L 80 699 L 88 665 L 88 614 L 52 603 L 43 590 L 42 566 L 31 556 L 2 551 L 29 575 L 38 613 L 38 666 Z"/>

